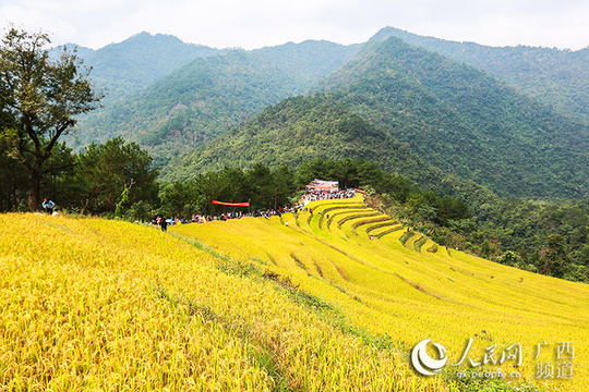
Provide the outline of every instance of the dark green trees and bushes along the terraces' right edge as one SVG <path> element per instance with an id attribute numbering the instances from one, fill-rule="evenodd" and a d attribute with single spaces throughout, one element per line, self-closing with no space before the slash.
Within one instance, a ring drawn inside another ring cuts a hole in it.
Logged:
<path id="1" fill-rule="evenodd" d="M 530 272 L 589 283 L 589 201 L 486 198 L 468 204 L 412 188 L 369 198 L 372 207 L 400 217 L 434 242 Z M 455 205 L 453 209 L 444 206 Z M 454 211 L 456 215 L 448 215 Z M 458 219 L 457 219 L 458 218 Z"/>

